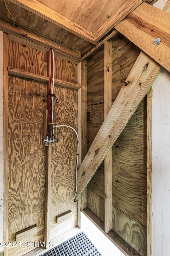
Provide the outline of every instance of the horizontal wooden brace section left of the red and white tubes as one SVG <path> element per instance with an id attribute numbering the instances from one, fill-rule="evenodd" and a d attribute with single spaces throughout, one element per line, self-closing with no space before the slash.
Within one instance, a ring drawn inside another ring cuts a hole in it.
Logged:
<path id="1" fill-rule="evenodd" d="M 45 77 L 44 75 L 38 75 L 38 74 L 27 72 L 17 68 L 8 67 L 8 74 L 17 75 L 19 77 L 24 77 L 24 78 L 31 78 L 33 80 L 40 81 L 40 82 L 47 83 L 49 81 L 49 78 Z"/>

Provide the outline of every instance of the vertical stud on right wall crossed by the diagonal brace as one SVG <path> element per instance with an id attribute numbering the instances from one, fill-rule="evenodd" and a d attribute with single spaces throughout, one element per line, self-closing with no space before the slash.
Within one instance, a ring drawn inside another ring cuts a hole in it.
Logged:
<path id="1" fill-rule="evenodd" d="M 104 118 L 112 107 L 112 40 L 104 43 Z M 104 158 L 104 231 L 112 229 L 112 148 Z"/>

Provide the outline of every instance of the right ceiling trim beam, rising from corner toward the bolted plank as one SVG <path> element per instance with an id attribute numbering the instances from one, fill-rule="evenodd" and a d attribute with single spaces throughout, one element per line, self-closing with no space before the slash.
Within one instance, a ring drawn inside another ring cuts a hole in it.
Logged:
<path id="1" fill-rule="evenodd" d="M 94 40 L 97 42 L 106 35 L 113 27 L 123 20 L 130 12 L 139 6 L 142 0 L 128 0 L 94 33 Z"/>

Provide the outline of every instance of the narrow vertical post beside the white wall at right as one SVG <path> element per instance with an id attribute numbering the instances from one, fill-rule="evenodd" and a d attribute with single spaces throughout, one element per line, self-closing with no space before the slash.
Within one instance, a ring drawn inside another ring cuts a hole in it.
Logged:
<path id="1" fill-rule="evenodd" d="M 152 256 L 152 87 L 147 94 L 147 256 Z"/>

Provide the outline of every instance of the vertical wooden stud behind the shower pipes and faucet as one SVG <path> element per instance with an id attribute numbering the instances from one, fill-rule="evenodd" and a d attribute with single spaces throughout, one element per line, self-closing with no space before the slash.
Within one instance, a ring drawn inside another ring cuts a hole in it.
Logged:
<path id="1" fill-rule="evenodd" d="M 51 72 L 50 51 L 47 58 L 47 77 L 50 78 Z M 50 81 L 47 83 L 47 94 L 49 93 Z M 48 108 L 48 100 L 47 100 Z M 50 214 L 51 214 L 51 151 L 52 145 L 46 147 L 46 185 L 45 185 L 45 225 L 44 225 L 44 241 L 48 246 L 50 241 Z"/>

